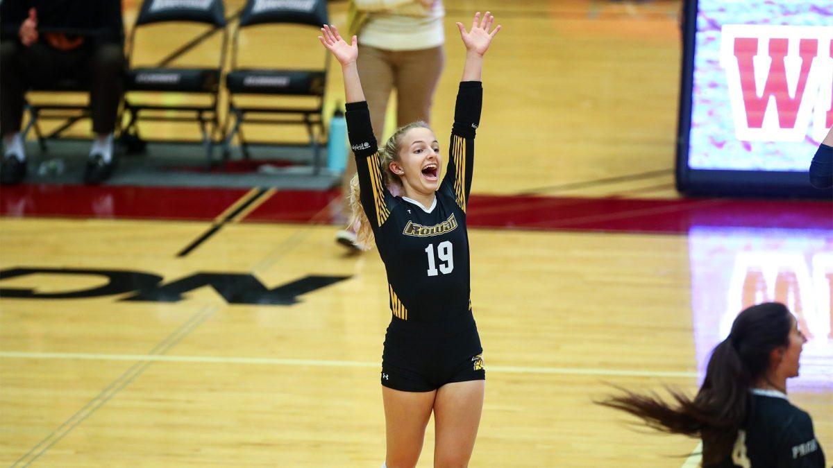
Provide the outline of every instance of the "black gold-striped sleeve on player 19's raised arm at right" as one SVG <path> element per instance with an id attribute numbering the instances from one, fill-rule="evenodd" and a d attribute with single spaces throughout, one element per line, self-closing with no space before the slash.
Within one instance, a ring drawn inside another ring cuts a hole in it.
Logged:
<path id="1" fill-rule="evenodd" d="M 454 126 L 451 127 L 448 169 L 442 183 L 451 184 L 457 204 L 466 211 L 471 193 L 471 176 L 474 172 L 474 137 L 480 125 L 483 107 L 483 84 L 461 82 L 454 108 Z"/>

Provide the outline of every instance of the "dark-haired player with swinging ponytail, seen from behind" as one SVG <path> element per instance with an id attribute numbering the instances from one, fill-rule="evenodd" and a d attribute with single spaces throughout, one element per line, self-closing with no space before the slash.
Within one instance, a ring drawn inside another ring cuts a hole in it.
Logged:
<path id="1" fill-rule="evenodd" d="M 626 392 L 600 404 L 648 426 L 700 437 L 708 468 L 824 468 L 810 415 L 792 406 L 786 380 L 798 376 L 806 338 L 783 304 L 751 306 L 711 352 L 694 399 L 672 391 L 676 406 Z"/>

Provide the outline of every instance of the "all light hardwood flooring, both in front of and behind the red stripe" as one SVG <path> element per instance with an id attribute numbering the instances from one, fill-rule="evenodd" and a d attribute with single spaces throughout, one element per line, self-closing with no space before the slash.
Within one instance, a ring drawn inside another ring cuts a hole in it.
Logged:
<path id="1" fill-rule="evenodd" d="M 676 197 L 676 3 L 447 5 L 448 58 L 433 122 L 441 139 L 461 64 L 452 19 L 489 7 L 506 28 L 486 63 L 476 194 Z M 332 7 L 338 24 L 343 4 Z M 328 218 L 245 222 L 255 218 L 247 212 L 177 256 L 228 213 L 191 222 L 0 218 L 0 269 L 42 270 L 2 279 L 3 289 L 90 290 L 107 284 L 101 271 L 155 275 L 160 285 L 203 273 L 251 276 L 268 290 L 287 286 L 262 303 L 224 298 L 211 286 L 195 286 L 180 301 L 163 294 L 126 301 L 136 294 L 130 281 L 102 296 L 3 297 L 0 463 L 381 465 L 378 379 L 390 311 L 377 252 L 344 256 Z M 592 400 L 609 384 L 696 389 L 698 346 L 719 328 L 701 302 L 745 294 L 727 276 L 739 261 L 758 271 L 751 256 L 725 253 L 732 242 L 797 251 L 802 261 L 816 259 L 814 268 L 833 256 L 829 229 L 769 243 L 695 231 L 473 228 L 470 236 L 488 375 L 472 467 L 695 466 L 696 441 L 634 430 L 632 420 Z M 823 290 L 825 271 L 812 276 L 813 291 Z M 793 387 L 791 401 L 814 416 L 830 457 L 833 390 L 823 373 L 830 364 L 812 364 L 802 372 L 815 380 Z M 432 436 L 429 425 L 421 467 L 431 466 Z"/>

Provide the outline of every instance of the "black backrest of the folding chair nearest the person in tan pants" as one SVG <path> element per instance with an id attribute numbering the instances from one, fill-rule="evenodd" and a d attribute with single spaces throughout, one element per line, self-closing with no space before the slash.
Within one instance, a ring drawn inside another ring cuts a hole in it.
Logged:
<path id="1" fill-rule="evenodd" d="M 306 24 L 321 27 L 329 22 L 326 0 L 247 0 L 240 27 L 265 23 Z"/>

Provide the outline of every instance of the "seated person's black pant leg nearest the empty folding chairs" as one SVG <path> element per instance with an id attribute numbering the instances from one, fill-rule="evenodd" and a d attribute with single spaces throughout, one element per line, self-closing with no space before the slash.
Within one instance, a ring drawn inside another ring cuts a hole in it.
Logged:
<path id="1" fill-rule="evenodd" d="M 92 131 L 112 133 L 116 128 L 118 105 L 124 92 L 124 52 L 122 45 L 97 45 L 88 62 Z"/>

